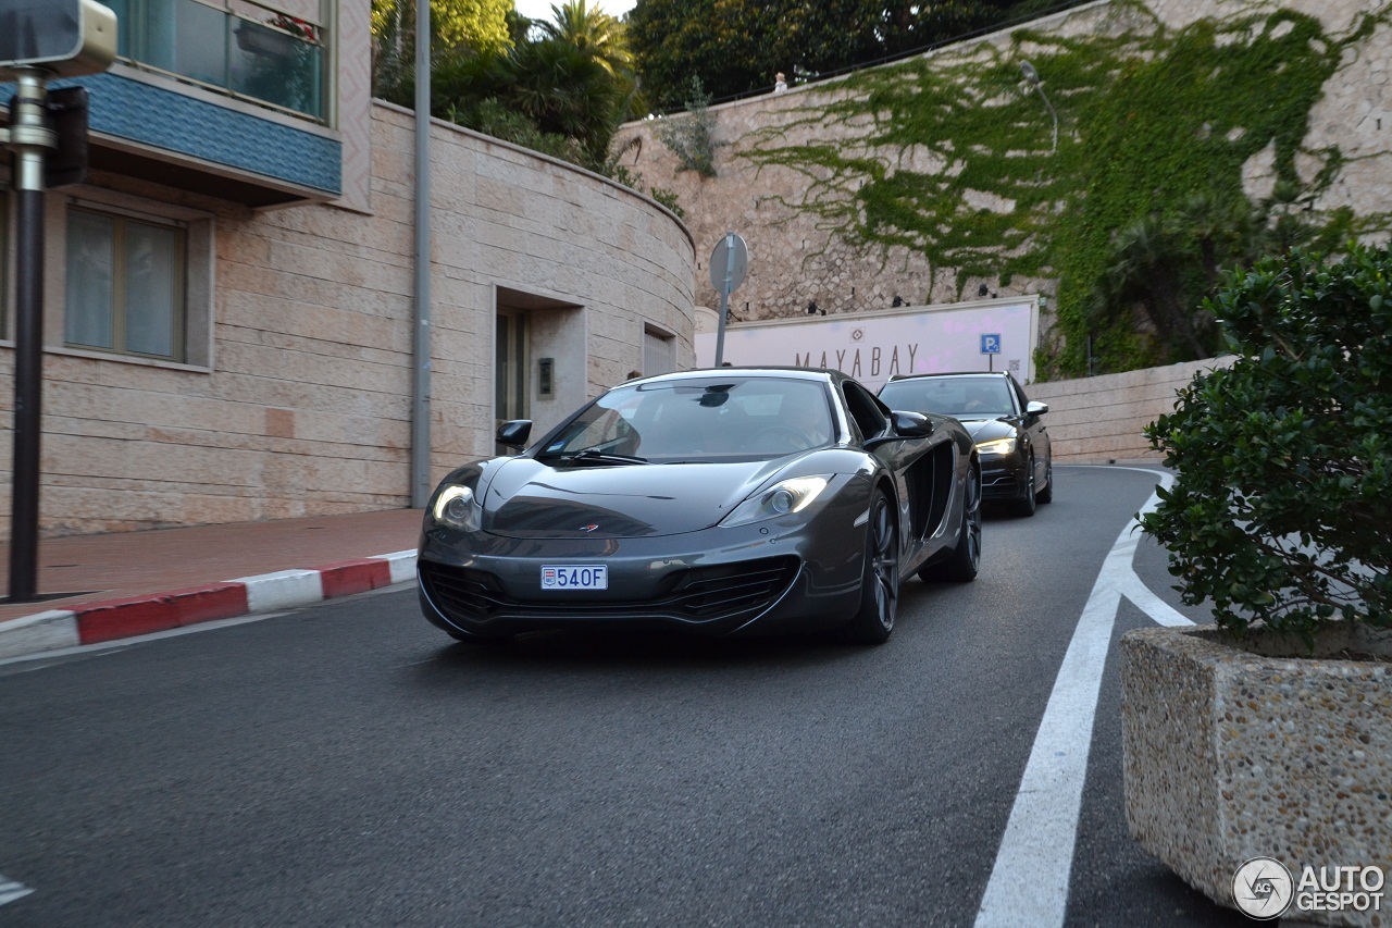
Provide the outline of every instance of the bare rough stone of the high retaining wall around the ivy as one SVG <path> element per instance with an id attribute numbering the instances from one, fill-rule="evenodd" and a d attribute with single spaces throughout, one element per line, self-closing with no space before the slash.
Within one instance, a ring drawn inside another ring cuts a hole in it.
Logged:
<path id="1" fill-rule="evenodd" d="M 1388 0 L 1147 0 L 1144 7 L 1128 3 L 1096 3 L 1030 24 L 1036 32 L 1059 36 L 1116 35 L 1140 28 L 1150 14 L 1171 28 L 1200 18 L 1237 18 L 1275 10 L 1296 10 L 1317 18 L 1329 35 L 1347 35 L 1368 13 L 1381 13 Z M 1148 8 L 1148 14 L 1144 13 Z M 1009 32 L 994 33 L 969 43 L 931 53 L 930 60 L 945 65 L 990 61 L 1011 47 Z M 1011 57 L 1029 54 L 1029 40 Z M 892 67 L 892 65 L 888 65 Z M 773 75 L 770 75 L 770 82 Z M 1023 92 L 1023 91 L 1022 91 Z M 991 276 L 959 277 L 955 268 L 930 266 L 923 254 L 908 248 L 859 247 L 842 237 L 845 222 L 828 220 L 800 206 L 810 198 L 838 201 L 855 213 L 856 181 L 839 183 L 809 163 L 805 167 L 774 163 L 756 166 L 749 155 L 770 139 L 780 148 L 805 145 L 835 146 L 844 153 L 878 162 L 885 176 L 912 170 L 951 171 L 954 166 L 924 146 L 871 150 L 862 141 L 870 117 L 860 124 L 823 121 L 817 113 L 845 99 L 844 81 L 834 79 L 770 93 L 710 109 L 718 176 L 703 178 L 679 170 L 678 159 L 657 137 L 657 123 L 649 120 L 625 127 L 621 138 L 642 141 L 636 157 L 625 164 L 644 181 L 678 194 L 686 223 L 696 240 L 697 301 L 718 305 L 704 262 L 727 231 L 741 233 L 749 244 L 749 272 L 731 300 L 734 323 L 807 312 L 807 304 L 830 312 L 881 309 L 899 297 L 909 305 L 954 302 L 979 295 L 1055 294 L 1047 277 L 1016 276 L 1008 286 Z M 987 103 L 987 102 L 983 102 Z M 983 109 L 988 118 L 990 109 Z M 1041 145 L 1048 146 L 1048 121 L 1041 109 Z M 1317 210 L 1350 206 L 1359 215 L 1392 210 L 1392 28 L 1379 25 L 1350 46 L 1339 71 L 1324 86 L 1324 98 L 1311 113 L 1310 132 L 1302 144 L 1306 152 L 1338 146 L 1343 160 L 1334 183 L 1313 203 Z M 1267 152 L 1246 166 L 1243 183 L 1249 195 L 1270 195 L 1274 185 L 1274 153 Z M 1311 180 L 1324 162 L 1310 155 L 1297 157 L 1302 177 Z M 967 195 L 965 208 L 1009 213 L 1012 203 L 991 191 Z M 981 293 L 981 287 L 986 293 Z"/>

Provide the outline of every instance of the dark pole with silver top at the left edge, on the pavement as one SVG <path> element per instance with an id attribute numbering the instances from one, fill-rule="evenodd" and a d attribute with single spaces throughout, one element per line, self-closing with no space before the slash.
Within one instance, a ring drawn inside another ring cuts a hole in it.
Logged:
<path id="1" fill-rule="evenodd" d="M 45 107 L 45 72 L 15 68 L 10 113 L 15 188 L 14 488 L 10 601 L 38 598 L 39 444 L 43 411 L 43 167 L 57 137 Z"/>

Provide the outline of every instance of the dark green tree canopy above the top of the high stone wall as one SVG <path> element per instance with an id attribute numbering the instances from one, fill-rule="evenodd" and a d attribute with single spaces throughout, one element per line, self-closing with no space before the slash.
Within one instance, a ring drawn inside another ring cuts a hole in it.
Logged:
<path id="1" fill-rule="evenodd" d="M 1034 0 L 638 0 L 628 17 L 638 70 L 661 107 L 692 78 L 722 99 L 930 46 L 1001 22 Z"/>

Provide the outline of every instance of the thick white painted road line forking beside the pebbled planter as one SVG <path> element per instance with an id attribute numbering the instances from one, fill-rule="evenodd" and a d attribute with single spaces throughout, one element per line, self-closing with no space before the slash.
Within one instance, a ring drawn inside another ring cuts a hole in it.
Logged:
<path id="1" fill-rule="evenodd" d="M 1171 474 L 1144 472 L 1160 475 L 1164 486 L 1173 482 Z M 1158 503 L 1160 497 L 1151 495 L 1141 513 Z M 1132 559 L 1139 543 L 1139 523 L 1133 518 L 1102 560 L 1083 606 L 1038 734 L 1034 736 L 1034 747 L 976 915 L 976 928 L 1063 924 L 1087 755 L 1093 747 L 1097 694 L 1122 596 L 1161 624 L 1193 624 L 1136 575 Z"/>

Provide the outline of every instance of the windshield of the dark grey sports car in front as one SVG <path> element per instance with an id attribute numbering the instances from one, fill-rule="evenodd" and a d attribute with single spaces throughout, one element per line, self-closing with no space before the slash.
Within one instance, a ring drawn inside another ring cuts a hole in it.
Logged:
<path id="1" fill-rule="evenodd" d="M 780 457 L 830 444 L 823 383 L 724 375 L 619 386 L 537 454 L 575 467 Z"/>

